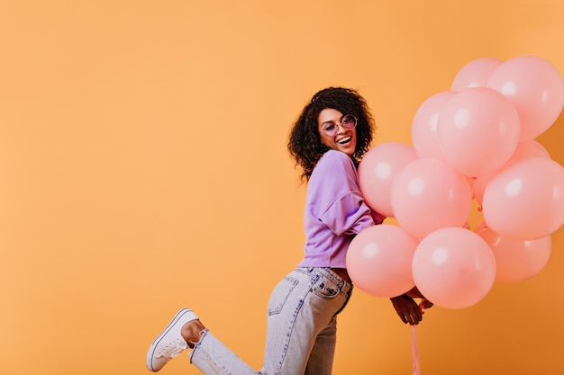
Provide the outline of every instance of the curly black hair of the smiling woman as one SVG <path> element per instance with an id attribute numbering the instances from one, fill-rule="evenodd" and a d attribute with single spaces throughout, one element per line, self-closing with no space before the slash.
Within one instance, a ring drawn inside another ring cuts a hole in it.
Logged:
<path id="1" fill-rule="evenodd" d="M 296 159 L 296 166 L 302 167 L 302 180 L 306 182 L 321 156 L 330 149 L 323 145 L 317 128 L 317 117 L 326 108 L 357 118 L 357 147 L 351 156 L 355 165 L 359 165 L 360 159 L 367 153 L 376 129 L 368 104 L 356 90 L 329 87 L 314 94 L 294 123 L 288 141 L 290 155 Z"/>

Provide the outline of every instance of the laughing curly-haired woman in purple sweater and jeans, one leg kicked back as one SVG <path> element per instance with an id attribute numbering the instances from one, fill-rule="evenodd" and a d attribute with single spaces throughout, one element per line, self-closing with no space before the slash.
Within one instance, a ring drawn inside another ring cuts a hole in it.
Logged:
<path id="1" fill-rule="evenodd" d="M 365 100 L 340 87 L 314 94 L 291 130 L 288 149 L 307 183 L 305 256 L 270 296 L 263 368 L 251 369 L 183 308 L 150 345 L 150 371 L 190 347 L 190 362 L 205 374 L 331 374 L 337 316 L 352 292 L 347 249 L 361 230 L 385 219 L 363 201 L 356 170 L 373 130 Z M 404 323 L 415 325 L 423 313 L 412 297 L 423 298 L 411 290 L 392 302 Z"/>

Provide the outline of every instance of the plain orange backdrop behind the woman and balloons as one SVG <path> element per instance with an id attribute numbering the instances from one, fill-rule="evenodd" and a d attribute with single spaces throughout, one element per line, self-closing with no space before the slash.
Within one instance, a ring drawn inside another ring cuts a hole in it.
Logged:
<path id="1" fill-rule="evenodd" d="M 177 308 L 259 368 L 274 284 L 302 256 L 287 154 L 314 92 L 359 89 L 377 142 L 469 61 L 564 72 L 564 2 L 11 1 L 0 4 L 0 373 L 142 374 Z M 564 164 L 564 119 L 538 140 Z M 564 373 L 564 231 L 536 277 L 433 308 L 423 374 Z M 334 374 L 409 374 L 408 326 L 361 290 Z M 196 374 L 186 355 L 166 374 Z"/>

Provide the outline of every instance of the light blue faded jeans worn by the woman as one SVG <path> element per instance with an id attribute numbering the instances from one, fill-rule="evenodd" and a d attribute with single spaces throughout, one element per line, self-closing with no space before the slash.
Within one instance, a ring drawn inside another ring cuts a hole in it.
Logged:
<path id="1" fill-rule="evenodd" d="M 327 268 L 297 268 L 268 301 L 267 344 L 257 372 L 205 330 L 190 362 L 206 375 L 331 375 L 337 315 L 352 285 Z"/>

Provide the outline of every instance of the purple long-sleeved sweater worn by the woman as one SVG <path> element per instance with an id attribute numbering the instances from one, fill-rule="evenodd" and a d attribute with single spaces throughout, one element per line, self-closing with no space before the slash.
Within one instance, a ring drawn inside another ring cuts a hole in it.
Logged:
<path id="1" fill-rule="evenodd" d="M 374 219 L 372 216 L 374 215 Z M 327 151 L 315 165 L 305 199 L 305 257 L 298 267 L 346 268 L 350 241 L 384 218 L 370 212 L 346 154 Z"/>

